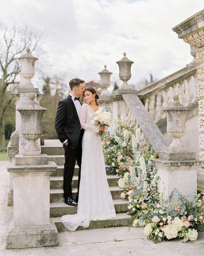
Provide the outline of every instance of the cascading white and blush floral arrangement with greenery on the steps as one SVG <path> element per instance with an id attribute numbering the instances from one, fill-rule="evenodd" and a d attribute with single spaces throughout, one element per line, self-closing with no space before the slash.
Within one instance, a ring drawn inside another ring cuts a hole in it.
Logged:
<path id="1" fill-rule="evenodd" d="M 120 176 L 121 198 L 128 199 L 132 227 L 144 227 L 153 242 L 182 237 L 181 242 L 197 240 L 198 229 L 204 223 L 204 200 L 201 194 L 185 197 L 174 189 L 166 200 L 158 193 L 157 168 L 150 149 L 140 148 L 141 131 L 127 125 L 122 118 L 114 122 L 104 137 L 104 154 L 111 173 Z M 172 198 L 174 202 L 172 203 Z"/>

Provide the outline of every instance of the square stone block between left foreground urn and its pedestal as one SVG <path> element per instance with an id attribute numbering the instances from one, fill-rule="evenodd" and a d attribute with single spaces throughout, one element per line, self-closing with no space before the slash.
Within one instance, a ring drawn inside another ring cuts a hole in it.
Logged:
<path id="1" fill-rule="evenodd" d="M 41 154 L 38 156 L 15 156 L 15 165 L 43 165 L 48 164 L 48 156 Z"/>

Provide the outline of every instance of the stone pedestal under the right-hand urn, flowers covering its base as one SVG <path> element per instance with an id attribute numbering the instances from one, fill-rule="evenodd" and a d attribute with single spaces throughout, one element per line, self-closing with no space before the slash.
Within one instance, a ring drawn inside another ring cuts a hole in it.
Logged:
<path id="1" fill-rule="evenodd" d="M 158 159 L 152 159 L 161 178 L 158 189 L 163 197 L 169 197 L 174 188 L 182 195 L 197 193 L 197 170 L 201 162 L 195 160 L 193 152 L 160 152 Z"/>

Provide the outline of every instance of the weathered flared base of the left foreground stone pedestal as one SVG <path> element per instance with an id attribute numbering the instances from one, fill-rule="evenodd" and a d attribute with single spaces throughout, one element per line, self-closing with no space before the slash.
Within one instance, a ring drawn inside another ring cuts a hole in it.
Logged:
<path id="1" fill-rule="evenodd" d="M 58 231 L 52 220 L 50 220 L 50 223 L 47 225 L 27 225 L 19 227 L 14 227 L 13 221 L 11 221 L 9 232 L 6 235 L 7 249 L 57 245 L 59 245 Z"/>

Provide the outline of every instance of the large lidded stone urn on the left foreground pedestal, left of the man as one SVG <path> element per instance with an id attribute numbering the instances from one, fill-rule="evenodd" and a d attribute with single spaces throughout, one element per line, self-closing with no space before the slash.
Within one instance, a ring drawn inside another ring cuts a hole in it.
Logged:
<path id="1" fill-rule="evenodd" d="M 34 101 L 34 93 L 30 93 L 29 98 L 30 102 L 26 106 L 17 109 L 22 119 L 20 131 L 23 138 L 28 141 L 22 152 L 24 156 L 39 155 L 41 153 L 40 147 L 36 145 L 36 140 L 42 134 L 43 114 L 47 110 Z"/>

